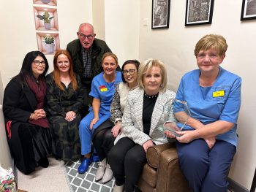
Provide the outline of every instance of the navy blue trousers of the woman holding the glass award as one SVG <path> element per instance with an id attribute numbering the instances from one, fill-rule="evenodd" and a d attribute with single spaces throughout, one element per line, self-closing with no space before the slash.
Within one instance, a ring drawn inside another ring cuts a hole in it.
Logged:
<path id="1" fill-rule="evenodd" d="M 194 192 L 227 192 L 227 172 L 236 146 L 216 140 L 210 150 L 204 139 L 176 142 L 181 171 Z"/>

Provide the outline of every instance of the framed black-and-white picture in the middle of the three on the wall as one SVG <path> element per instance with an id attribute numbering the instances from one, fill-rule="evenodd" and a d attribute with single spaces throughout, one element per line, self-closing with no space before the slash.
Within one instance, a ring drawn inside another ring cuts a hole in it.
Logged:
<path id="1" fill-rule="evenodd" d="M 185 26 L 211 24 L 214 0 L 187 0 Z"/>

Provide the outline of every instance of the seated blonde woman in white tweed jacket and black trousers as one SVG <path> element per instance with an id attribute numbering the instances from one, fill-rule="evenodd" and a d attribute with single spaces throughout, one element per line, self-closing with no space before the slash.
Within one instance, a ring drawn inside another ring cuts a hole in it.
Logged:
<path id="1" fill-rule="evenodd" d="M 172 103 L 176 96 L 166 90 L 167 74 L 162 61 L 148 59 L 140 64 L 138 87 L 129 91 L 121 128 L 108 161 L 116 178 L 114 191 L 134 191 L 146 164 L 148 147 L 168 142 L 159 127 L 174 121 Z"/>

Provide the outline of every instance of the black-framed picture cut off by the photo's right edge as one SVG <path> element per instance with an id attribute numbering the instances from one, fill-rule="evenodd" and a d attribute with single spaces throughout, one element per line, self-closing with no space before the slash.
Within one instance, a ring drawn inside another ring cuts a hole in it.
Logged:
<path id="1" fill-rule="evenodd" d="M 256 1 L 243 0 L 241 10 L 241 20 L 256 19 Z"/>

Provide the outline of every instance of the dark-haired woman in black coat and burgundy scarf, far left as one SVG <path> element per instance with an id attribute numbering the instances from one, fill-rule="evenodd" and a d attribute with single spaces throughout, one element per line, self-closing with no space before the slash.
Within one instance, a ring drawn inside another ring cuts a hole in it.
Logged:
<path id="1" fill-rule="evenodd" d="M 4 90 L 4 120 L 12 158 L 20 172 L 48 167 L 51 134 L 45 114 L 45 74 L 49 68 L 39 51 L 26 54 L 20 73 Z"/>

